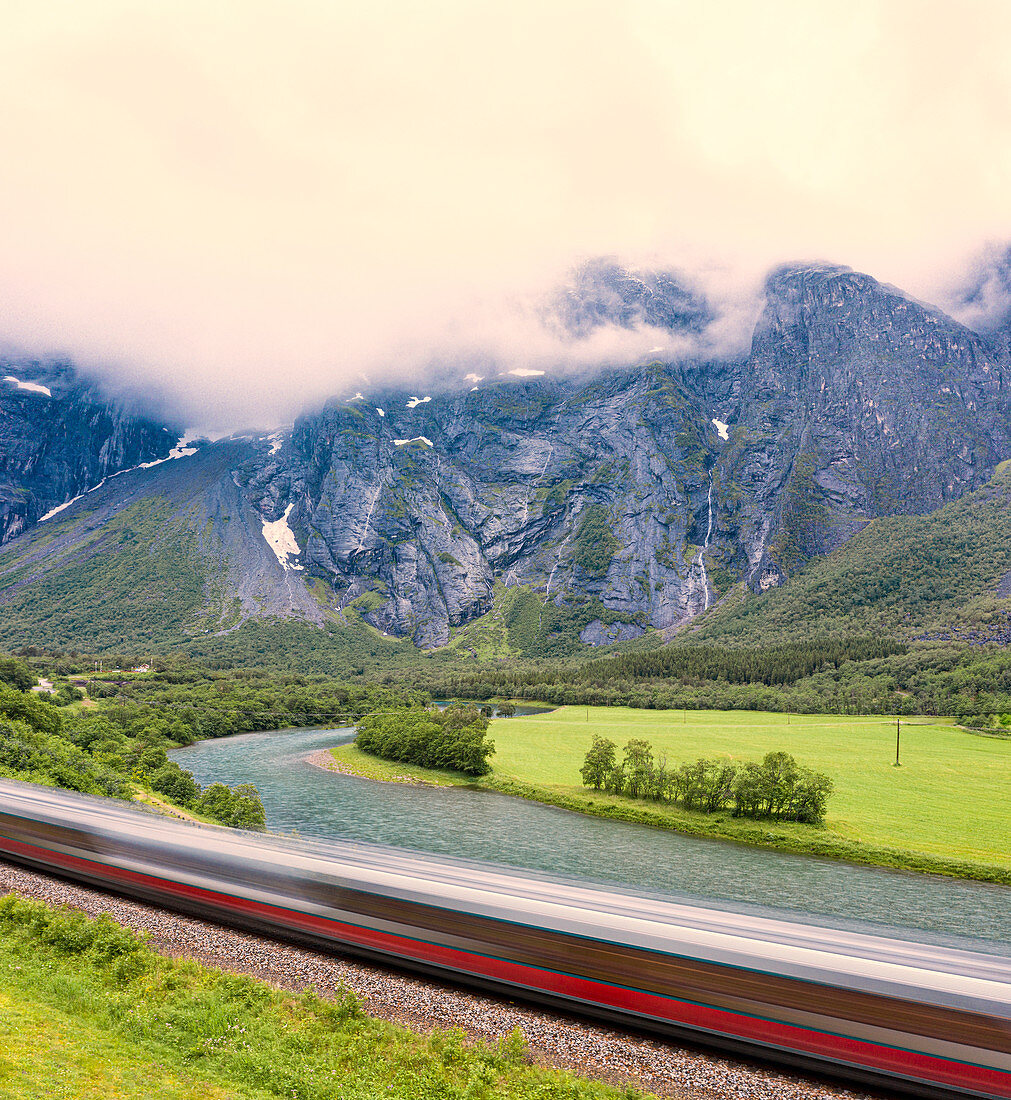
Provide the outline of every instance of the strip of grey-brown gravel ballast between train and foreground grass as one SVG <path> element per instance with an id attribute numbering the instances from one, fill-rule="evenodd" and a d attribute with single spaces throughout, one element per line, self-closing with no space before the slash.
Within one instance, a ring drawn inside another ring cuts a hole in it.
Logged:
<path id="1" fill-rule="evenodd" d="M 535 1062 L 631 1085 L 670 1100 L 869 1100 L 816 1080 L 583 1023 L 512 1001 L 409 977 L 347 956 L 275 943 L 0 862 L 0 894 L 18 893 L 146 932 L 164 955 L 261 978 L 292 991 L 353 990 L 374 1016 L 416 1031 L 461 1027 L 495 1040 L 519 1027 Z"/>

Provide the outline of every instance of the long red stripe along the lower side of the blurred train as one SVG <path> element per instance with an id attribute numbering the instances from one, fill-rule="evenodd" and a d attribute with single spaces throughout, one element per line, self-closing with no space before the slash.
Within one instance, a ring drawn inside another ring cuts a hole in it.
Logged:
<path id="1" fill-rule="evenodd" d="M 475 955 L 455 947 L 409 939 L 394 933 L 363 928 L 332 917 L 314 916 L 297 910 L 281 909 L 265 902 L 235 898 L 231 894 L 175 882 L 172 879 L 163 879 L 110 864 L 101 864 L 97 860 L 69 856 L 50 848 L 23 844 L 10 837 L 0 837 L 0 846 L 6 846 L 7 850 L 12 854 L 28 856 L 42 862 L 56 862 L 67 869 L 88 871 L 89 868 L 98 867 L 113 880 L 146 884 L 168 895 L 202 901 L 226 914 L 238 911 L 260 916 L 268 920 L 282 931 L 285 927 L 294 927 L 303 932 L 326 936 L 336 943 L 369 947 L 394 957 L 436 964 L 453 970 L 493 978 L 509 985 L 572 998 L 576 1001 L 587 1001 L 635 1015 L 650 1016 L 653 1020 L 716 1032 L 761 1045 L 785 1047 L 798 1053 L 866 1066 L 888 1074 L 912 1077 L 916 1080 L 974 1089 L 991 1096 L 1011 1097 L 1011 1074 L 999 1069 L 952 1062 L 914 1050 L 881 1046 L 877 1043 L 850 1038 L 845 1035 L 811 1031 L 796 1024 L 777 1023 L 776 1021 L 740 1015 L 727 1009 L 715 1009 L 679 1001 L 659 993 L 611 986 L 575 975 L 543 970 L 521 963 L 510 963 L 507 959 Z M 91 871 L 91 873 L 95 872 Z"/>

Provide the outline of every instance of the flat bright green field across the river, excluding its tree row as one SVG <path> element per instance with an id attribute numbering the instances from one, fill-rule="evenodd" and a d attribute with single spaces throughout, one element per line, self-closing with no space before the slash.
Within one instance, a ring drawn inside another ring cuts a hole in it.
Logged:
<path id="1" fill-rule="evenodd" d="M 693 813 L 590 791 L 580 767 L 594 734 L 609 737 L 619 752 L 630 738 L 644 738 L 669 765 L 791 752 L 835 783 L 825 825 Z M 887 717 L 568 706 L 497 718 L 491 736 L 494 770 L 476 782 L 493 790 L 695 836 L 1011 884 L 1011 741 L 945 719 L 903 719 L 900 768 L 893 767 L 895 723 Z M 388 767 L 428 779 L 421 768 Z"/>

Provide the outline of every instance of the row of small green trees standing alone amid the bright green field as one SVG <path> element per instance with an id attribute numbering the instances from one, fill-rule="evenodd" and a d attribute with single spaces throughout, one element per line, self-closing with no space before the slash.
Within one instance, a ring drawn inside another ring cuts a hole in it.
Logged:
<path id="1" fill-rule="evenodd" d="M 818 823 L 825 817 L 832 780 L 802 768 L 789 752 L 768 752 L 761 763 L 700 758 L 680 767 L 655 757 L 633 738 L 617 759 L 617 746 L 594 737 L 581 769 L 583 783 L 631 799 L 677 803 L 702 813 Z"/>

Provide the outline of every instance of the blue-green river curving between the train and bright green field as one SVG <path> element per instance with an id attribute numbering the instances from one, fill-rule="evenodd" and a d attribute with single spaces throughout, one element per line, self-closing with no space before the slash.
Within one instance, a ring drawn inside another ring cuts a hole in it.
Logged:
<path id="1" fill-rule="evenodd" d="M 353 738 L 353 729 L 240 734 L 173 757 L 204 784 L 255 783 L 276 833 L 507 864 L 766 915 L 792 911 L 837 927 L 915 930 L 914 938 L 959 946 L 979 938 L 1011 955 L 1007 887 L 701 839 L 465 787 L 378 783 L 306 761 Z"/>

